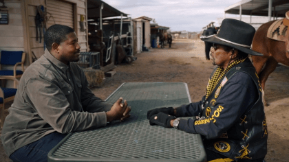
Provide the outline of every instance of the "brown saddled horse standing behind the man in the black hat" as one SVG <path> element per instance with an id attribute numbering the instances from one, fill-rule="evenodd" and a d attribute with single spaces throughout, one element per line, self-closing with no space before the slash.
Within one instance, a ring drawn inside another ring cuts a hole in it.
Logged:
<path id="1" fill-rule="evenodd" d="M 275 21 L 269 21 L 261 25 L 256 31 L 252 43 L 252 49 L 254 51 L 264 54 L 264 56 L 252 56 L 252 60 L 259 76 L 261 88 L 263 89 L 263 102 L 266 106 L 268 106 L 268 104 L 264 100 L 264 89 L 268 76 L 276 69 L 278 62 L 289 66 L 289 58 L 286 57 L 285 42 L 267 38 L 268 28 L 274 22 Z"/>

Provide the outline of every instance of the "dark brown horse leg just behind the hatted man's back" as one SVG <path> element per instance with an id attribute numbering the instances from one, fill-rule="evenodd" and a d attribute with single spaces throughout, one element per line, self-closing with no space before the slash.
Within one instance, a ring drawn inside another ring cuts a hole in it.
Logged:
<path id="1" fill-rule="evenodd" d="M 275 60 L 275 58 L 270 57 L 268 58 L 264 69 L 259 74 L 259 80 L 261 82 L 261 88 L 263 91 L 262 98 L 263 98 L 263 102 L 265 106 L 268 106 L 268 103 L 266 102 L 265 97 L 264 97 L 265 82 L 268 79 L 270 73 L 272 73 L 276 69 L 277 65 L 278 65 L 277 60 Z"/>

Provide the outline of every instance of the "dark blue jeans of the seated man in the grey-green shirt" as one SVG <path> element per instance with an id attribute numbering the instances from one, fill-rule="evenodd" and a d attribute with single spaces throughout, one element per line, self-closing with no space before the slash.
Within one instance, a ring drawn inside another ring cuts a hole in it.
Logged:
<path id="1" fill-rule="evenodd" d="M 10 155 L 10 159 L 14 162 L 18 161 L 47 161 L 47 154 L 56 146 L 66 134 L 59 132 L 52 132 L 49 135 L 45 135 L 38 141 L 29 143 L 22 148 L 19 148 Z"/>

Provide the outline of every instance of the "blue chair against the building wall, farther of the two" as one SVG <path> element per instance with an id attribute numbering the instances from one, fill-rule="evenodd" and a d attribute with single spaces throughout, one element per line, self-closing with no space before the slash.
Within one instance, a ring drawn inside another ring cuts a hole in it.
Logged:
<path id="1" fill-rule="evenodd" d="M 0 80 L 9 78 L 21 78 L 24 73 L 25 53 L 23 51 L 1 51 Z M 2 65 L 14 65 L 14 69 L 2 69 Z M 17 70 L 21 65 L 22 70 Z M 14 82 L 16 88 L 16 82 Z"/>

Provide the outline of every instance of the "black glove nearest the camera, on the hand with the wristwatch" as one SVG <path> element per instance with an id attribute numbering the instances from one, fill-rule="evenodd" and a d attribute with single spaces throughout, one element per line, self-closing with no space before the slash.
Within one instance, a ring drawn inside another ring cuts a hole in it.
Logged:
<path id="1" fill-rule="evenodd" d="M 170 128 L 172 119 L 175 119 L 175 117 L 160 112 L 156 115 L 152 115 L 151 118 L 149 118 L 149 124 L 151 124 L 151 126 L 158 125 L 165 128 Z"/>

